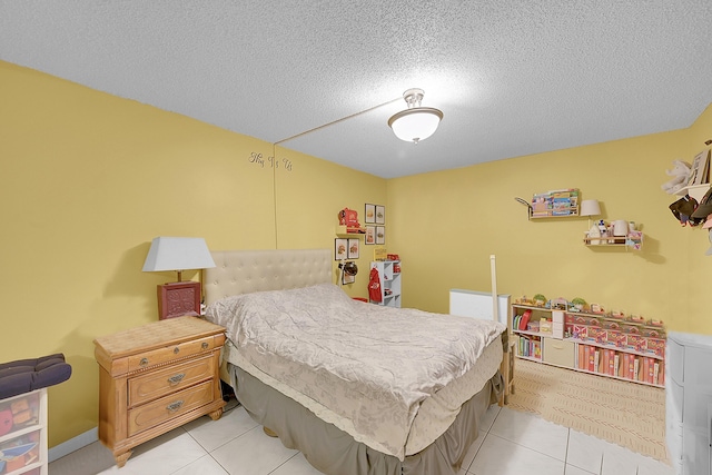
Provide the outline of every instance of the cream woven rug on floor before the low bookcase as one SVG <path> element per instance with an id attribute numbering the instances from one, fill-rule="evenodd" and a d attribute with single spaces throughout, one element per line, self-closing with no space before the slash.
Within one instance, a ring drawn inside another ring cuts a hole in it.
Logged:
<path id="1" fill-rule="evenodd" d="M 663 388 L 517 359 L 507 407 L 668 461 Z"/>

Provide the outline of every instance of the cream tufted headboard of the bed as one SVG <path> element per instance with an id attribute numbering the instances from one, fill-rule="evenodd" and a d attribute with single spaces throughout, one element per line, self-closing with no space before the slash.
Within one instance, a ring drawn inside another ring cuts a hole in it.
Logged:
<path id="1" fill-rule="evenodd" d="M 334 280 L 330 249 L 214 250 L 204 270 L 205 303 L 231 295 L 284 290 Z"/>

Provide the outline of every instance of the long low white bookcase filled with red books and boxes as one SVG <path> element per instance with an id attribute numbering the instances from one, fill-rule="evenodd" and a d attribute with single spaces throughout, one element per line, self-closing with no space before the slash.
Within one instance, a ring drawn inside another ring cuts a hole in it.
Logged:
<path id="1" fill-rule="evenodd" d="M 611 313 L 512 304 L 516 357 L 664 387 L 665 329 Z"/>

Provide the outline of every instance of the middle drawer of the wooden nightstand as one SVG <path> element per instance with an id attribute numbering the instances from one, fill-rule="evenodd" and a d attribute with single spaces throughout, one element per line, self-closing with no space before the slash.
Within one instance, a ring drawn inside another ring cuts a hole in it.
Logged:
<path id="1" fill-rule="evenodd" d="M 208 353 L 199 359 L 171 365 L 165 369 L 131 378 L 128 380 L 128 405 L 129 407 L 137 406 L 201 380 L 210 379 L 217 372 L 216 366 L 216 358 L 211 353 Z"/>

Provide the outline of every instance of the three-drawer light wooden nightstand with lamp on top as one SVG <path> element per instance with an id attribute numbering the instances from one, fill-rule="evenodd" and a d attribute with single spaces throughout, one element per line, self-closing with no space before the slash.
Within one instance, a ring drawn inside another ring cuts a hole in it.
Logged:
<path id="1" fill-rule="evenodd" d="M 225 328 L 196 317 L 155 321 L 95 339 L 99 439 L 119 467 L 131 449 L 189 420 L 222 415 Z"/>

